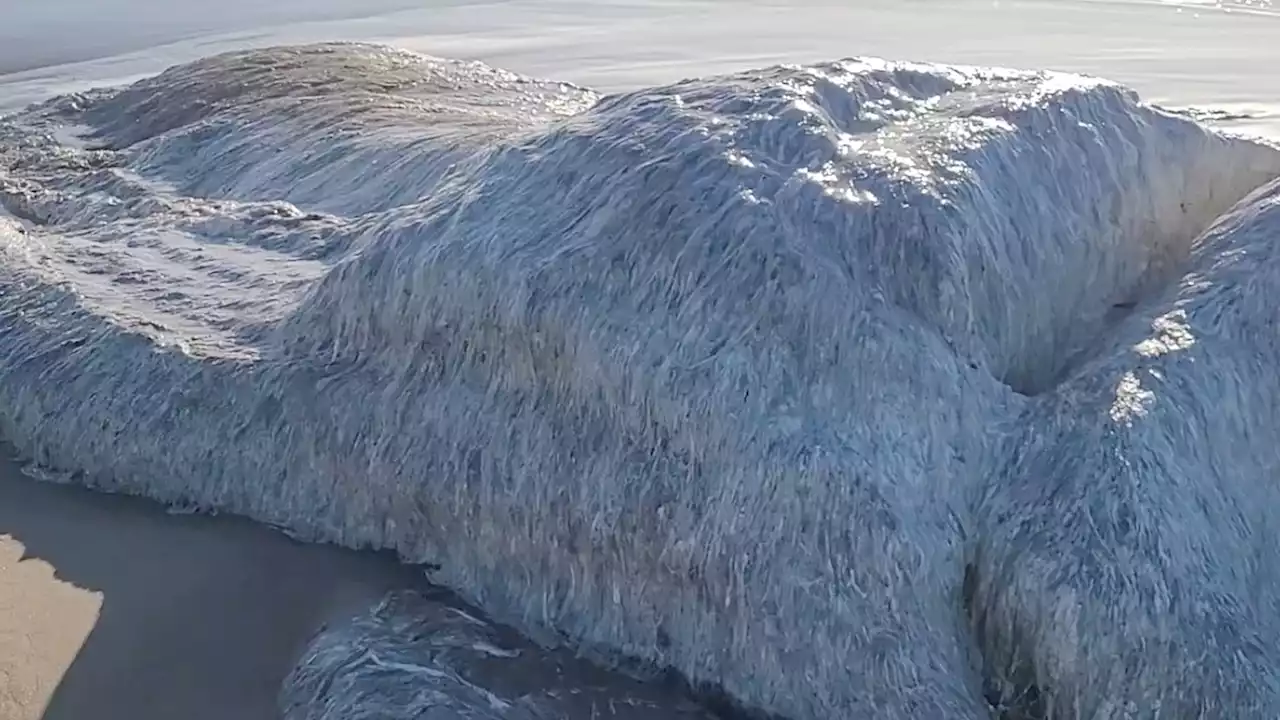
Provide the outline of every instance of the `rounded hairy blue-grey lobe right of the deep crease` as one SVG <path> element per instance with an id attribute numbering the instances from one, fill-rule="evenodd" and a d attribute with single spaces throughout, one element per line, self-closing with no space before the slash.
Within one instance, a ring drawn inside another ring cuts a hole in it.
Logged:
<path id="1" fill-rule="evenodd" d="M 979 505 L 973 606 L 1006 693 L 1038 687 L 1052 717 L 1275 715 L 1277 293 L 1272 182 L 1028 404 Z"/>

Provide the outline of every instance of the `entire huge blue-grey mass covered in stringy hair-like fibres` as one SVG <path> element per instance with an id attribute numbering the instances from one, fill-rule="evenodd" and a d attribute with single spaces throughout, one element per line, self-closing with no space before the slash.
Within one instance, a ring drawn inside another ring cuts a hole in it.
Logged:
<path id="1" fill-rule="evenodd" d="M 324 45 L 60 97 L 0 159 L 41 465 L 794 720 L 1280 715 L 1275 147 L 1052 73 L 599 97 Z M 493 692 L 334 670 L 424 623 L 317 637 L 291 717 Z"/>

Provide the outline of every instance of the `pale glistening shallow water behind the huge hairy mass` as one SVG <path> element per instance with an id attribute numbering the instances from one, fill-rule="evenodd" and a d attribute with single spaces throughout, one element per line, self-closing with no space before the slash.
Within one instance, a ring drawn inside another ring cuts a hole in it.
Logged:
<path id="1" fill-rule="evenodd" d="M 1280 136 L 1280 9 L 1270 0 L 6 0 L 0 110 L 210 53 L 370 40 L 596 90 L 849 55 L 1052 68 L 1208 108 Z M 177 6 L 175 6 L 177 5 Z M 87 14 L 92 8 L 92 15 Z M 72 63 L 61 64 L 59 63 Z"/>

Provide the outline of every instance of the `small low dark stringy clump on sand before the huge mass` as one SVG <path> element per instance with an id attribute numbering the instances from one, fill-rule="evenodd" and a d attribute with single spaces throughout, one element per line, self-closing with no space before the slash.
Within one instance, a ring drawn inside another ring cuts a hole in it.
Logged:
<path id="1" fill-rule="evenodd" d="M 714 719 L 680 692 L 539 648 L 452 598 L 411 591 L 316 633 L 280 707 L 283 720 Z"/>

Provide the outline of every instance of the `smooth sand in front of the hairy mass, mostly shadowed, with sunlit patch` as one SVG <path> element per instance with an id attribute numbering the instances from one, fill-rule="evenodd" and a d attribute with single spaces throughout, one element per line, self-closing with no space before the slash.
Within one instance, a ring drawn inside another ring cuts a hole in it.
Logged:
<path id="1" fill-rule="evenodd" d="M 329 619 L 425 587 L 387 557 L 35 482 L 0 457 L 0 717 L 265 720 Z"/>

